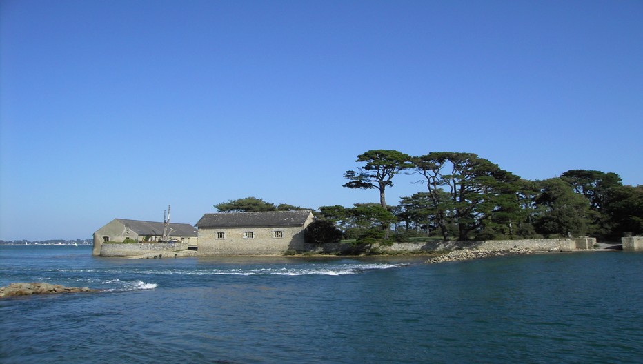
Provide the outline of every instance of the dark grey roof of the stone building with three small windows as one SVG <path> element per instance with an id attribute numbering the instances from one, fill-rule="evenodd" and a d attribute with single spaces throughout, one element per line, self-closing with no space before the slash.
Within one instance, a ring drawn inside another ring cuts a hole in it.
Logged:
<path id="1" fill-rule="evenodd" d="M 204 214 L 197 223 L 199 228 L 249 228 L 268 226 L 302 226 L 311 212 L 269 211 L 269 212 L 223 212 Z"/>

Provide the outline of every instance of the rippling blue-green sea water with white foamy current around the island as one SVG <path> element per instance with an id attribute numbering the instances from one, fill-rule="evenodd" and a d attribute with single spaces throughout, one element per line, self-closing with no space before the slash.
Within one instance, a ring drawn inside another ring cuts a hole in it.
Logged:
<path id="1" fill-rule="evenodd" d="M 0 363 L 643 363 L 643 253 L 118 259 L 2 246 Z"/>

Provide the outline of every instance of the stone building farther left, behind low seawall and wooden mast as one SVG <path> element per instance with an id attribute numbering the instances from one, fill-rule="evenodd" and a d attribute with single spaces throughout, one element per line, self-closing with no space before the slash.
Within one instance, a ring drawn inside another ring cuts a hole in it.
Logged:
<path id="1" fill-rule="evenodd" d="M 157 243 L 163 236 L 164 223 L 155 221 L 140 221 L 114 219 L 107 225 L 94 232 L 94 255 L 101 254 L 103 243 L 122 243 L 132 239 L 137 243 Z M 197 228 L 186 223 L 170 223 L 170 241 L 197 245 Z"/>

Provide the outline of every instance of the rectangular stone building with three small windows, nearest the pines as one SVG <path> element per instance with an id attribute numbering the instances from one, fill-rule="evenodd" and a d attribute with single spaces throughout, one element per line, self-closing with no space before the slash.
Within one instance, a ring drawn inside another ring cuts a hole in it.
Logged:
<path id="1" fill-rule="evenodd" d="M 197 222 L 199 255 L 273 255 L 304 250 L 311 211 L 204 214 Z"/>

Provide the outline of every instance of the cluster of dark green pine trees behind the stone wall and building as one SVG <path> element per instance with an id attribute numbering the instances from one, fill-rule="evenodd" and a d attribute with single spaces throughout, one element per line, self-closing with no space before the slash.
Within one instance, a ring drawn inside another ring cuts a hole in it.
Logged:
<path id="1" fill-rule="evenodd" d="M 569 170 L 542 181 L 521 179 L 472 153 L 410 156 L 369 150 L 346 171 L 346 188 L 374 189 L 379 203 L 321 206 L 313 228 L 323 236 L 357 241 L 534 239 L 595 236 L 617 240 L 643 234 L 643 185 L 623 185 L 618 174 Z M 398 174 L 413 174 L 423 188 L 386 203 Z M 315 210 L 248 197 L 215 205 L 221 212 Z M 323 222 L 322 222 L 323 221 Z M 328 231 L 330 230 L 330 231 Z M 333 239 L 335 240 L 335 239 Z"/>

